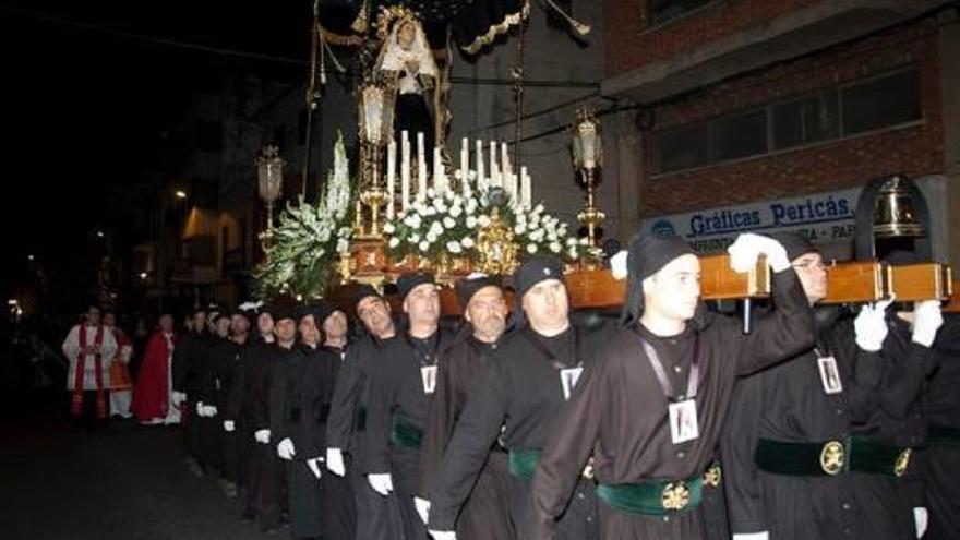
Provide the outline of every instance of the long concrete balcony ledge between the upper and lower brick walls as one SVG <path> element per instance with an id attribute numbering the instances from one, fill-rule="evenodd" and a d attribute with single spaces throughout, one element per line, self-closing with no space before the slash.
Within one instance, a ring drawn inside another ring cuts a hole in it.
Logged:
<path id="1" fill-rule="evenodd" d="M 601 92 L 605 96 L 655 103 L 868 35 L 950 3 L 944 0 L 818 2 L 608 79 Z"/>

